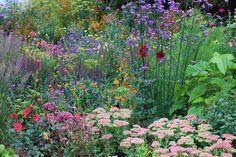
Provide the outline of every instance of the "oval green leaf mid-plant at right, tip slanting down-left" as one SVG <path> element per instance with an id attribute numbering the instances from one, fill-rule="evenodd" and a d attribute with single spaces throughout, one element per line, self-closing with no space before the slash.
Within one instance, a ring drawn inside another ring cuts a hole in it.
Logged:
<path id="1" fill-rule="evenodd" d="M 207 84 L 200 84 L 196 86 L 191 94 L 188 102 L 192 102 L 193 100 L 197 99 L 198 97 L 202 96 L 207 90 Z"/>

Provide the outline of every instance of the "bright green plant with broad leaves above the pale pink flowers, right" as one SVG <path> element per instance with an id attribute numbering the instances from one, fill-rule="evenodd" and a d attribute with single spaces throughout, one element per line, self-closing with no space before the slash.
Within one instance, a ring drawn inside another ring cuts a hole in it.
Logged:
<path id="1" fill-rule="evenodd" d="M 188 66 L 185 84 L 176 86 L 170 114 L 185 108 L 188 114 L 204 115 L 204 109 L 211 106 L 222 96 L 228 96 L 236 86 L 231 74 L 235 69 L 234 57 L 231 54 L 214 53 L 209 62 L 200 61 Z M 184 104 L 188 103 L 187 106 Z"/>

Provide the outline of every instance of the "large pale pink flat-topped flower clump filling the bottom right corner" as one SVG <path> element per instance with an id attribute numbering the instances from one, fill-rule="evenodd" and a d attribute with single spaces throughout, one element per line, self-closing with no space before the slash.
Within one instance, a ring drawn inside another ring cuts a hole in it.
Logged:
<path id="1" fill-rule="evenodd" d="M 161 118 L 147 128 L 134 126 L 123 132 L 128 137 L 120 143 L 120 147 L 134 149 L 132 139 L 136 136 L 143 142 L 151 139 L 147 144 L 151 144 L 153 154 L 161 157 L 231 157 L 236 152 L 231 144 L 236 139 L 234 135 L 223 134 L 220 137 L 212 134 L 212 127 L 204 121 L 199 122 L 195 115 L 173 120 Z"/>

